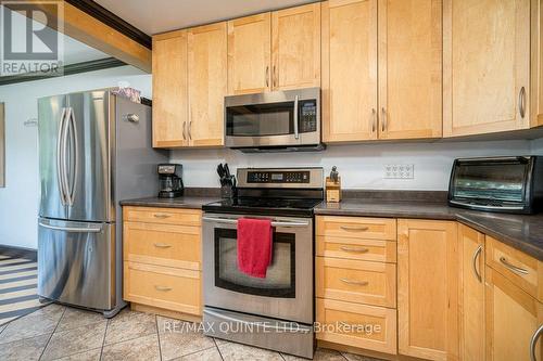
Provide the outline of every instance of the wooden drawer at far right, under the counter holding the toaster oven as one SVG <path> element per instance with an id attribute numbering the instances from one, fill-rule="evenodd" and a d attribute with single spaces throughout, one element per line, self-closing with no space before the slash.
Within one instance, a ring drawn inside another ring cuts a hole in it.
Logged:
<path id="1" fill-rule="evenodd" d="M 541 262 L 487 235 L 487 265 L 513 281 L 532 297 L 543 301 Z"/>

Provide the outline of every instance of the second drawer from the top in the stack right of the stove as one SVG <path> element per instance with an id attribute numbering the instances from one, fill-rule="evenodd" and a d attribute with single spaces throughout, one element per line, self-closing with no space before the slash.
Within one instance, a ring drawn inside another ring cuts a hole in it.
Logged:
<path id="1" fill-rule="evenodd" d="M 319 235 L 317 256 L 395 263 L 396 243 Z"/>

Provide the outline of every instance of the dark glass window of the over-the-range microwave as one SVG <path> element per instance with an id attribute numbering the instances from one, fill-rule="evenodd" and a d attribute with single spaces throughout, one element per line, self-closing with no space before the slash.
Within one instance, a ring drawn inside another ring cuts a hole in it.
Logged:
<path id="1" fill-rule="evenodd" d="M 226 133 L 232 137 L 286 136 L 294 132 L 294 103 L 229 106 Z"/>

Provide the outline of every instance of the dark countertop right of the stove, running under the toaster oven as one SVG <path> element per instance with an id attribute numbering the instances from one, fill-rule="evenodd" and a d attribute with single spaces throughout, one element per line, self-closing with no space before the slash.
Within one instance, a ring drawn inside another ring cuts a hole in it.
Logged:
<path id="1" fill-rule="evenodd" d="M 315 215 L 456 220 L 543 261 L 543 214 L 505 215 L 444 203 L 344 199 L 315 207 Z"/>

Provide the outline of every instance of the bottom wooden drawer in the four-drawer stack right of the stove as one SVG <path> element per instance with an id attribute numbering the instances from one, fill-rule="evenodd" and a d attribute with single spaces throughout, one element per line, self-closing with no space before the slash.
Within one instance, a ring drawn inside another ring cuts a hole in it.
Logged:
<path id="1" fill-rule="evenodd" d="M 317 298 L 315 333 L 317 339 L 325 341 L 397 353 L 393 309 Z"/>

